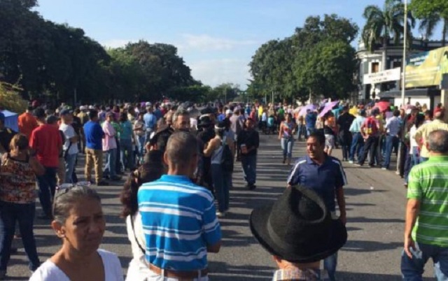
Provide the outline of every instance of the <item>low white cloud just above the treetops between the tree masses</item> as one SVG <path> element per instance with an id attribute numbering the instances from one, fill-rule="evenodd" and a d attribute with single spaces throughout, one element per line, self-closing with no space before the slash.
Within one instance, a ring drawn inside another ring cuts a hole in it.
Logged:
<path id="1" fill-rule="evenodd" d="M 247 64 L 243 59 L 210 59 L 190 63 L 190 68 L 193 77 L 206 85 L 232 82 L 245 89 L 251 77 Z"/>

